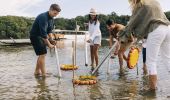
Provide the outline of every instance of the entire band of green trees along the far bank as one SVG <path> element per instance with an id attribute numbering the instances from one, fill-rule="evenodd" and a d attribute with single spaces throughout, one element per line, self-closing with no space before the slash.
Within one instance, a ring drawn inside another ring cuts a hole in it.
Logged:
<path id="1" fill-rule="evenodd" d="M 170 20 L 170 11 L 165 13 L 167 18 Z M 102 36 L 108 36 L 106 29 L 106 20 L 113 19 L 116 23 L 126 25 L 130 16 L 128 15 L 117 15 L 112 12 L 108 15 L 99 15 L 101 23 Z M 55 29 L 74 30 L 77 24 L 80 26 L 80 30 L 87 30 L 85 23 L 88 22 L 88 15 L 77 16 L 76 18 L 57 18 L 55 19 Z M 15 39 L 29 38 L 29 31 L 32 27 L 34 18 L 18 17 L 18 16 L 0 16 L 0 39 L 8 39 L 13 37 Z"/>

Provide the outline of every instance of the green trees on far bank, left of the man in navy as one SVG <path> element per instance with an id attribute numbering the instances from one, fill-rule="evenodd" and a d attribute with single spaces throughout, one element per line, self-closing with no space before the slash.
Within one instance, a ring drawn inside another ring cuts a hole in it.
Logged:
<path id="1" fill-rule="evenodd" d="M 1 16 L 0 38 L 28 38 L 32 21 L 24 17 Z"/>

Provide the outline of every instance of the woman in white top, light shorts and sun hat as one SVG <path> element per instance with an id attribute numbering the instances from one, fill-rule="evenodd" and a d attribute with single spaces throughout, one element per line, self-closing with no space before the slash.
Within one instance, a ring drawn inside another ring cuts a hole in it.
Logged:
<path id="1" fill-rule="evenodd" d="M 98 15 L 95 9 L 90 10 L 89 14 L 89 40 L 90 43 L 90 54 L 91 54 L 91 66 L 94 67 L 94 60 L 96 66 L 98 65 L 98 49 L 101 45 L 101 31 L 100 22 L 98 20 Z"/>

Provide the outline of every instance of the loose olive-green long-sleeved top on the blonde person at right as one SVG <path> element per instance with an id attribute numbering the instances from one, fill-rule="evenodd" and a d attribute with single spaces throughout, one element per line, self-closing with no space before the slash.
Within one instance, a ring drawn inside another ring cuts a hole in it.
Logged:
<path id="1" fill-rule="evenodd" d="M 143 3 L 141 7 L 135 9 L 129 23 L 119 33 L 122 41 L 126 42 L 131 33 L 140 40 L 143 37 L 147 37 L 160 24 L 170 25 L 169 20 L 156 0 L 143 0 Z"/>

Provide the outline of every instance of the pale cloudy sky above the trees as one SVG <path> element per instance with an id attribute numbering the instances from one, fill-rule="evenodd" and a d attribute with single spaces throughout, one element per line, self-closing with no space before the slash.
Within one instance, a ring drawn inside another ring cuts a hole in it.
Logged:
<path id="1" fill-rule="evenodd" d="M 169 0 L 158 0 L 164 11 L 170 11 Z M 118 15 L 131 15 L 128 0 L 0 0 L 0 16 L 15 15 L 36 17 L 48 11 L 52 3 L 60 5 L 58 17 L 75 18 L 89 13 L 95 8 L 101 14 L 116 12 Z"/>

